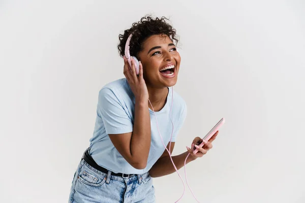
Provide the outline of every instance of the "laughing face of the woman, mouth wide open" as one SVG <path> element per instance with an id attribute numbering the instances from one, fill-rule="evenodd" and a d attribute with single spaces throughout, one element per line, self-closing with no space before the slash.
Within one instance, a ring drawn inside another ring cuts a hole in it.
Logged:
<path id="1" fill-rule="evenodd" d="M 153 88 L 171 87 L 177 82 L 181 58 L 171 39 L 165 36 L 150 36 L 138 54 L 145 83 Z"/>

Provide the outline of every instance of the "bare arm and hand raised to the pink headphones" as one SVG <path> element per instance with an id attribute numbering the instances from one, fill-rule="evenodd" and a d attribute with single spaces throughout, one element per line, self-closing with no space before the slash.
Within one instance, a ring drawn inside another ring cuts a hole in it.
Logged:
<path id="1" fill-rule="evenodd" d="M 109 134 L 109 138 L 127 162 L 137 169 L 143 169 L 147 165 L 151 140 L 148 90 L 143 79 L 141 62 L 139 63 L 139 77 L 135 72 L 134 61 L 131 61 L 131 70 L 125 57 L 124 62 L 124 75 L 136 99 L 133 132 Z"/>

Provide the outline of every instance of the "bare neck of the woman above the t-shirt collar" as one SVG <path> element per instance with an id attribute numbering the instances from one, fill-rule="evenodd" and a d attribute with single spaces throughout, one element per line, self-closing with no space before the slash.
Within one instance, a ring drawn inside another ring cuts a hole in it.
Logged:
<path id="1" fill-rule="evenodd" d="M 167 87 L 163 88 L 151 88 L 147 86 L 148 95 L 149 95 L 149 101 L 151 105 L 154 107 L 154 111 L 160 111 L 166 104 L 166 98 L 167 94 L 169 93 L 169 90 Z M 152 110 L 150 103 L 148 102 L 149 109 Z"/>

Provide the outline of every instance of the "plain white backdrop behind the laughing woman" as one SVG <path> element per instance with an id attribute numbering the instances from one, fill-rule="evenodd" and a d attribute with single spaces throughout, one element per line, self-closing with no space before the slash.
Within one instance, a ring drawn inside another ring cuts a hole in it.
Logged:
<path id="1" fill-rule="evenodd" d="M 305 3 L 1 1 L 0 202 L 68 202 L 92 137 L 98 92 L 123 78 L 119 33 L 145 14 L 180 36 L 174 87 L 188 116 L 174 154 L 225 117 L 187 165 L 201 202 L 305 202 Z M 180 174 L 184 177 L 183 168 Z M 183 191 L 154 179 L 157 202 Z M 195 202 L 186 186 L 180 202 Z"/>

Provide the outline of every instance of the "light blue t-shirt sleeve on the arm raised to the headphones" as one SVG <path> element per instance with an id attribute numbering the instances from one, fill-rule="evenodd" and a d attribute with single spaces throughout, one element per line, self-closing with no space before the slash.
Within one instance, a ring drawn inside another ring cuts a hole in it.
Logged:
<path id="1" fill-rule="evenodd" d="M 119 95 L 110 88 L 103 88 L 99 92 L 97 113 L 103 120 L 107 134 L 133 131 L 133 122 L 119 98 Z"/>

